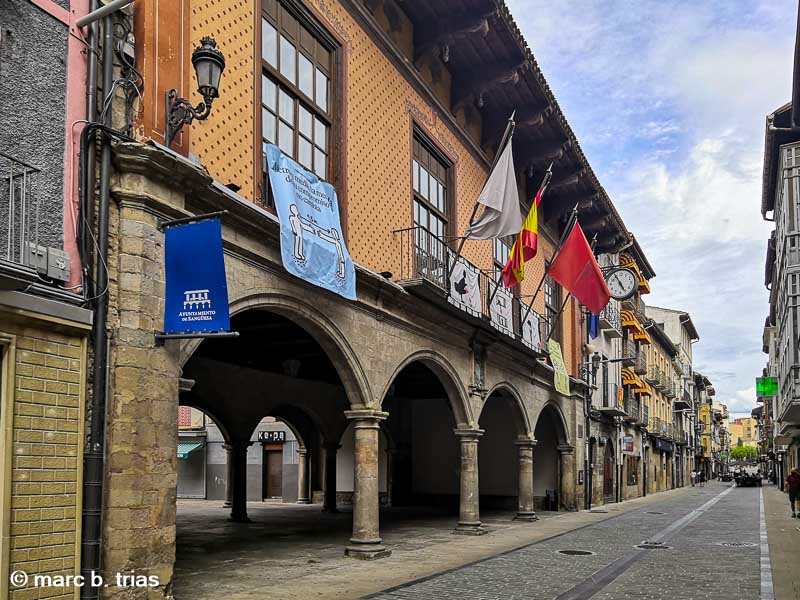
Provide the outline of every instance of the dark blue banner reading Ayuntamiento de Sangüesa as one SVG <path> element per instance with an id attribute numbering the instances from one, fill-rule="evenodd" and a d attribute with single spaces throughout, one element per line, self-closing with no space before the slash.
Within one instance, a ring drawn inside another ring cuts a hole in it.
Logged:
<path id="1" fill-rule="evenodd" d="M 228 331 L 231 323 L 220 220 L 168 227 L 164 254 L 164 333 Z"/>

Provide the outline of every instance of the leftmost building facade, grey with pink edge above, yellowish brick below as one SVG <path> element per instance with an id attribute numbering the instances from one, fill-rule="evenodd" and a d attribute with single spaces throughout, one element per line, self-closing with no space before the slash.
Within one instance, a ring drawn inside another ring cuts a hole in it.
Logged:
<path id="1" fill-rule="evenodd" d="M 90 294 L 77 253 L 86 10 L 0 6 L 0 597 L 13 571 L 74 574 L 80 555 Z M 47 77 L 42 77 L 43 72 Z M 31 101 L 36 98 L 36 101 Z M 49 590 L 73 598 L 72 590 Z M 30 596 L 28 596 L 30 597 Z"/>

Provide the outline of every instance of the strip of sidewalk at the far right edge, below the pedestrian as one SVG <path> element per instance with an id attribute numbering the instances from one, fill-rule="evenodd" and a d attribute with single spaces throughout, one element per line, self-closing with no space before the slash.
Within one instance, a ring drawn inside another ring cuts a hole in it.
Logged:
<path id="1" fill-rule="evenodd" d="M 789 496 L 776 486 L 764 487 L 769 557 L 775 600 L 800 598 L 800 519 L 792 519 Z"/>

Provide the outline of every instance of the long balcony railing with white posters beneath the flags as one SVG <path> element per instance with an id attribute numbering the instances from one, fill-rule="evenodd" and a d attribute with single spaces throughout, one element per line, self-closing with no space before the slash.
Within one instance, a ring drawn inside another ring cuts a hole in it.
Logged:
<path id="1" fill-rule="evenodd" d="M 454 299 L 449 294 L 448 276 L 456 257 L 447 244 L 423 227 L 400 229 L 394 234 L 400 242 L 399 281 L 427 281 L 440 288 L 450 304 L 474 317 L 484 319 L 501 333 L 517 339 L 537 352 L 545 350 L 550 323 L 535 310 L 528 310 L 528 305 L 503 287 L 502 283 L 498 284 L 464 257 L 460 257 L 459 263 L 470 272 L 473 281 L 477 281 L 479 299 L 474 305 Z"/>

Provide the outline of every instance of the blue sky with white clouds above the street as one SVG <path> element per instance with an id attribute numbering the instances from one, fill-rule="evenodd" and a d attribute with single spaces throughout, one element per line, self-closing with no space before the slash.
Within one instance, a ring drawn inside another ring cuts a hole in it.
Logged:
<path id="1" fill-rule="evenodd" d="M 729 412 L 766 364 L 766 115 L 789 101 L 797 2 L 506 0 L 589 162 L 689 312 L 694 368 Z"/>

